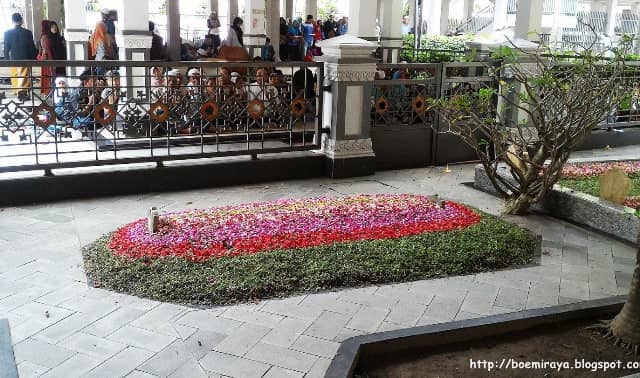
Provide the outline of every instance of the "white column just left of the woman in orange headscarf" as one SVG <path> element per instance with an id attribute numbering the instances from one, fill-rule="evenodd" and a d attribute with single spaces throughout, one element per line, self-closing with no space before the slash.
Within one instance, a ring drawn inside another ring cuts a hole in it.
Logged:
<path id="1" fill-rule="evenodd" d="M 64 2 L 64 37 L 67 40 L 67 58 L 69 60 L 87 59 L 87 41 L 89 28 L 87 27 L 87 10 L 85 0 L 65 0 Z M 67 74 L 77 76 L 82 67 L 68 68 Z"/>

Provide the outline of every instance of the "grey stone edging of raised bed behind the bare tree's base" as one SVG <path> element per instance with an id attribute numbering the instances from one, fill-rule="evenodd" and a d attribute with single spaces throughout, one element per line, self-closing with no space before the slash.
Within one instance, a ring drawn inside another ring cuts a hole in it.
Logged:
<path id="1" fill-rule="evenodd" d="M 511 179 L 506 166 L 499 167 L 499 170 L 501 176 Z M 474 186 L 482 191 L 498 194 L 482 165 L 476 166 Z M 555 185 L 542 203 L 534 206 L 534 210 L 547 212 L 627 242 L 635 244 L 638 240 L 640 218 L 630 213 L 626 207 L 573 189 Z"/>

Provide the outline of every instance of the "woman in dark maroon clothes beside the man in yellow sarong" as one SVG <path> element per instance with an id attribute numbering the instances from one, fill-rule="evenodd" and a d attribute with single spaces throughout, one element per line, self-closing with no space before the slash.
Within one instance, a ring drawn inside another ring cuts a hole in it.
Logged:
<path id="1" fill-rule="evenodd" d="M 66 60 L 67 49 L 64 37 L 60 35 L 58 24 L 55 21 L 42 20 L 42 34 L 40 35 L 40 59 L 41 60 Z M 49 94 L 55 79 L 64 76 L 64 66 L 41 68 L 40 90 L 43 94 Z"/>

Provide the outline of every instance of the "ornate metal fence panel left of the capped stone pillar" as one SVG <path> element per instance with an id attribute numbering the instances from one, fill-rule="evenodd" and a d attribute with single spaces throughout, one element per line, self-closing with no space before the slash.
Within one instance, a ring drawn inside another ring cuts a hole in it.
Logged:
<path id="1" fill-rule="evenodd" d="M 320 63 L 0 62 L 7 69 L 0 172 L 319 147 Z"/>

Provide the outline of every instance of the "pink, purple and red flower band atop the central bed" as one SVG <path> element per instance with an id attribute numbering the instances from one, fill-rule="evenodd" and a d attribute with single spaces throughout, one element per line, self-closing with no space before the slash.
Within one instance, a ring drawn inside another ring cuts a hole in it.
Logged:
<path id="1" fill-rule="evenodd" d="M 155 234 L 147 231 L 147 220 L 140 219 L 117 230 L 109 248 L 134 258 L 203 260 L 448 231 L 479 220 L 464 206 L 443 202 L 441 208 L 424 196 L 282 200 L 166 214 Z"/>

